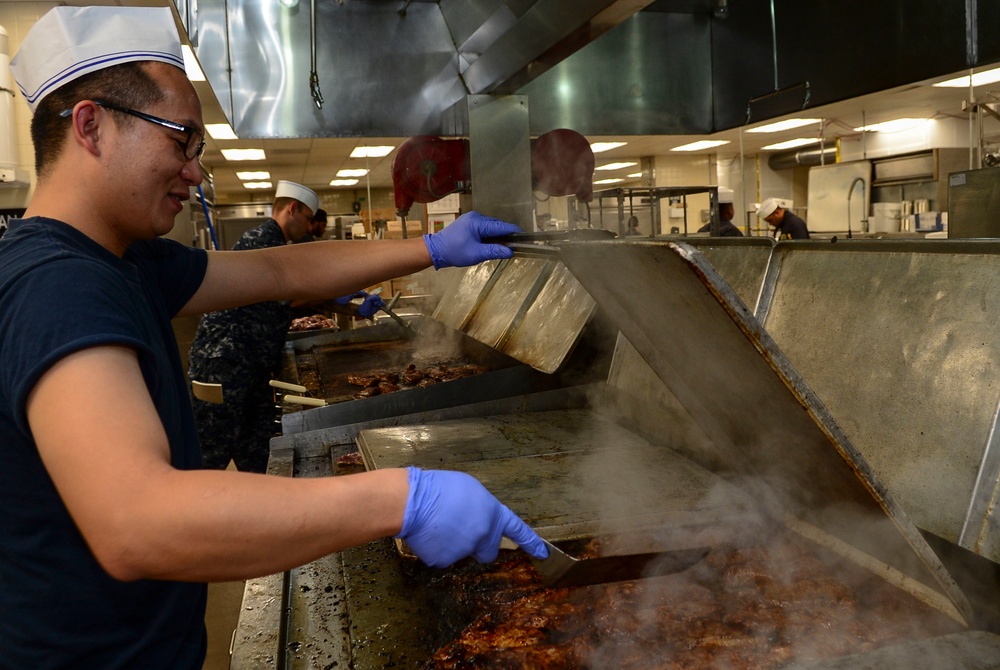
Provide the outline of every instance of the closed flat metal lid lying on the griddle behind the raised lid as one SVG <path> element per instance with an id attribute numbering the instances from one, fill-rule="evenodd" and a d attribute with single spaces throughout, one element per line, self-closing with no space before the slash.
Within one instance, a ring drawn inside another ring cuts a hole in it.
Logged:
<path id="1" fill-rule="evenodd" d="M 369 469 L 467 472 L 546 539 L 656 529 L 674 548 L 724 533 L 754 507 L 738 488 L 590 410 L 555 410 L 358 434 Z"/>

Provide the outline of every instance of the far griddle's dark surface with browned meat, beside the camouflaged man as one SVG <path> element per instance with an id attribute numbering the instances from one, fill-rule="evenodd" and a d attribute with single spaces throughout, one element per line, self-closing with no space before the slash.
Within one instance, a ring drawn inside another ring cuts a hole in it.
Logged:
<path id="1" fill-rule="evenodd" d="M 489 362 L 473 360 L 456 352 L 453 345 L 435 346 L 420 341 L 360 342 L 350 345 L 320 345 L 296 355 L 299 383 L 327 402 L 352 400 L 362 387 L 347 381 L 349 376 L 401 373 L 407 365 L 418 368 L 476 363 L 490 369 Z M 405 390 L 405 389 L 404 389 Z"/>

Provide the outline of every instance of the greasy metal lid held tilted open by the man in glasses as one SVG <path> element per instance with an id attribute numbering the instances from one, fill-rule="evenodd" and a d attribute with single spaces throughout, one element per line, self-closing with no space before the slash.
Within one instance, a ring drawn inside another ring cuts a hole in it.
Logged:
<path id="1" fill-rule="evenodd" d="M 711 438 L 722 474 L 793 529 L 955 618 L 972 609 L 732 288 L 680 242 L 573 242 L 560 258 Z M 646 287 L 643 290 L 637 287 Z"/>

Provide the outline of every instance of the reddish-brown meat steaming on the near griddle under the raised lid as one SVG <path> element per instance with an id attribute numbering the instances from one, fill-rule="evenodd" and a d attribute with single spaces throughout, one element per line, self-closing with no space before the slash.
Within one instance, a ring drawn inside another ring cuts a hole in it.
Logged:
<path id="1" fill-rule="evenodd" d="M 802 538 L 761 539 L 684 573 L 577 589 L 542 587 L 519 552 L 452 571 L 430 588 L 443 627 L 466 623 L 423 667 L 780 668 L 963 630 Z"/>

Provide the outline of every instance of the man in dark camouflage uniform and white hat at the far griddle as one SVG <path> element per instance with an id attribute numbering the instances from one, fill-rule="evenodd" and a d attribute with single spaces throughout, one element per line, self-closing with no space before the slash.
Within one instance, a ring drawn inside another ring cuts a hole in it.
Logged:
<path id="1" fill-rule="evenodd" d="M 316 193 L 279 181 L 273 218 L 245 232 L 233 250 L 283 246 L 306 239 Z M 192 398 L 202 460 L 224 469 L 229 460 L 240 470 L 264 472 L 278 413 L 268 382 L 281 370 L 281 352 L 292 321 L 287 301 L 259 302 L 210 312 L 201 318 L 188 357 L 188 376 L 222 384 L 222 404 Z"/>

